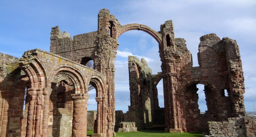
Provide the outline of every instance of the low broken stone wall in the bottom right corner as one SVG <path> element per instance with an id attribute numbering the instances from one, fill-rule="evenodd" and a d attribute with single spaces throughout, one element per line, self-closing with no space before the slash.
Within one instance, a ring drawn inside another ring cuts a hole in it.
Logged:
<path id="1" fill-rule="evenodd" d="M 208 122 L 209 135 L 204 137 L 254 137 L 256 118 L 252 116 L 228 118 L 222 122 Z"/>

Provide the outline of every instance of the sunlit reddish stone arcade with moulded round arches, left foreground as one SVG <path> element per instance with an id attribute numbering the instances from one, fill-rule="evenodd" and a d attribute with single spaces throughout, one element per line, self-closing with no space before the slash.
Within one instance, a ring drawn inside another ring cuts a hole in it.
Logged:
<path id="1" fill-rule="evenodd" d="M 102 82 L 101 85 L 104 85 L 105 75 L 80 63 L 69 61 L 39 49 L 25 52 L 23 56 L 24 58 L 21 58 L 19 62 L 20 68 L 26 73 L 30 81 L 27 90 L 30 98 L 27 136 L 45 136 L 51 132 L 52 121 L 48 122 L 51 119 L 49 116 L 52 115 L 52 112 L 49 112 L 50 95 L 52 93 L 50 87 L 52 83 L 57 84 L 62 80 L 67 80 L 65 84 L 71 83 L 69 88 L 72 87 L 68 96 L 70 104 L 73 100 L 72 136 L 86 135 L 87 100 L 90 95 L 86 94 L 85 85 L 89 84 L 88 81 L 92 76 L 95 76 L 95 78 L 98 76 Z M 45 63 L 45 61 L 48 61 L 48 63 Z M 69 111 L 72 112 L 71 108 L 69 108 Z M 102 113 L 100 113 L 100 119 L 102 119 L 102 116 L 106 116 Z"/>

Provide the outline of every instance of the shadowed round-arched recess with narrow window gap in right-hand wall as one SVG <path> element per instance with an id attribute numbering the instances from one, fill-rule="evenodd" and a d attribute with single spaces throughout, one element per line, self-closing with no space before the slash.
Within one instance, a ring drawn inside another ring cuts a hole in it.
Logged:
<path id="1" fill-rule="evenodd" d="M 198 105 L 197 84 L 204 85 L 206 105 L 208 110 L 201 114 Z M 206 131 L 207 121 L 218 120 L 218 108 L 215 98 L 219 97 L 216 87 L 205 80 L 192 80 L 187 82 L 180 90 L 180 108 L 184 113 L 185 131 Z M 182 119 L 182 118 L 181 118 Z"/>

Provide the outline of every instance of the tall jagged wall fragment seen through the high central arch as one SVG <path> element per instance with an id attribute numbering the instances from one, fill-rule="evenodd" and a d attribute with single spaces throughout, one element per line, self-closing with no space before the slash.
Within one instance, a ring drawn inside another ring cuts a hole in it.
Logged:
<path id="1" fill-rule="evenodd" d="M 153 122 L 152 70 L 143 58 L 140 61 L 135 56 L 129 56 L 128 59 L 131 106 L 124 116 L 124 121 L 135 122 L 138 128 L 143 129 L 145 125 L 152 125 Z M 127 116 L 131 115 L 130 113 L 134 113 L 135 117 Z"/>

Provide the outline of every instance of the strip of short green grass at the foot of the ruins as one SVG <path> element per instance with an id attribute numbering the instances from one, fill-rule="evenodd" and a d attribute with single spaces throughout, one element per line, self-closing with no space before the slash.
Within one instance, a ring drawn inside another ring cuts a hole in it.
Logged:
<path id="1" fill-rule="evenodd" d="M 92 131 L 87 131 L 87 135 L 91 136 Z M 202 137 L 203 132 L 193 133 L 165 133 L 159 130 L 140 130 L 138 132 L 116 132 L 116 137 Z"/>

